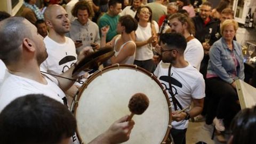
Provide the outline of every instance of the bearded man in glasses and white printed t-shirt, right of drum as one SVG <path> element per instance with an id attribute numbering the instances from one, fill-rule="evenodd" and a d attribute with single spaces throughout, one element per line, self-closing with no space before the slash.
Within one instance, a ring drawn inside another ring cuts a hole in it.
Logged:
<path id="1" fill-rule="evenodd" d="M 203 110 L 205 84 L 203 75 L 184 59 L 186 38 L 178 33 L 161 35 L 162 61 L 154 74 L 165 87 L 172 105 L 171 134 L 174 143 L 186 143 L 188 119 Z M 166 62 L 166 63 L 165 63 Z M 194 103 L 190 110 L 181 112 Z"/>

